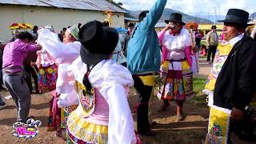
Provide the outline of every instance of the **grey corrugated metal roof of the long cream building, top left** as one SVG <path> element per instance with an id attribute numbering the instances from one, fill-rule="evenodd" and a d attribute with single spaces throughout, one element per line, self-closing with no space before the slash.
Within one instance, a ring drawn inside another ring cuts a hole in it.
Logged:
<path id="1" fill-rule="evenodd" d="M 126 10 L 114 6 L 106 0 L 0 0 L 0 4 L 25 5 L 25 6 L 47 6 L 75 10 L 97 10 L 127 13 Z"/>

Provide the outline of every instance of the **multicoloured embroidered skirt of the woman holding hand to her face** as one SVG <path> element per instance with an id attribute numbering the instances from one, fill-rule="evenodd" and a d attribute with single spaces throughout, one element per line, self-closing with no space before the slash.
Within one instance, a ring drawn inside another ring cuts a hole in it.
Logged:
<path id="1" fill-rule="evenodd" d="M 158 98 L 184 101 L 193 93 L 193 74 L 186 58 L 164 62 L 160 68 Z"/>

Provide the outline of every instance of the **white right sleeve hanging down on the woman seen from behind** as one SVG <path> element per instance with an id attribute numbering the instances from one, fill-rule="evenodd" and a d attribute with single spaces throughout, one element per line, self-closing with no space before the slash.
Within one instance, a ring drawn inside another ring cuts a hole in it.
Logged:
<path id="1" fill-rule="evenodd" d="M 127 87 L 128 89 L 128 87 Z M 135 144 L 134 120 L 128 104 L 128 90 L 122 85 L 106 90 L 106 102 L 110 107 L 108 143 Z"/>

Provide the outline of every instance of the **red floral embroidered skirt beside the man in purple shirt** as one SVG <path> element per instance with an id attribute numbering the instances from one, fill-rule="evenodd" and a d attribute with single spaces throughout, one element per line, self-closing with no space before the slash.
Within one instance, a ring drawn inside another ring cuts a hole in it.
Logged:
<path id="1" fill-rule="evenodd" d="M 39 66 L 38 68 L 38 90 L 48 92 L 56 89 L 58 78 L 58 66 Z"/>

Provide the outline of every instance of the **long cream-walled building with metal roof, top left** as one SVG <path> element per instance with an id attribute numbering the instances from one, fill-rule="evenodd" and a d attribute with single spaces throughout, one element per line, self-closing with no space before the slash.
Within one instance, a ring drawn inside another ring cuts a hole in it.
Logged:
<path id="1" fill-rule="evenodd" d="M 10 40 L 12 33 L 9 26 L 14 22 L 29 22 L 36 26 L 54 26 L 56 33 L 63 27 L 78 22 L 84 24 L 92 20 L 104 21 L 105 11 L 114 15 L 114 27 L 124 27 L 126 10 L 114 6 L 106 0 L 4 0 L 0 1 L 0 40 Z"/>

